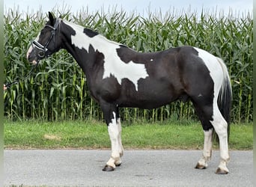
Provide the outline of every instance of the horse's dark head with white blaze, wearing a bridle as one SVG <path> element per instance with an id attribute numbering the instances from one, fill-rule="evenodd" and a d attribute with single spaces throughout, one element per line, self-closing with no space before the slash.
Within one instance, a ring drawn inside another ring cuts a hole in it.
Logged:
<path id="1" fill-rule="evenodd" d="M 31 43 L 27 52 L 28 61 L 37 64 L 41 59 L 47 58 L 52 53 L 61 49 L 60 28 L 62 19 L 56 19 L 52 13 L 49 12 L 49 21 L 37 35 L 37 38 Z"/>

